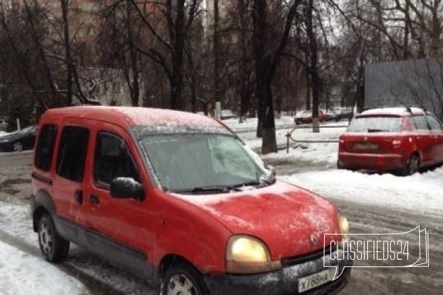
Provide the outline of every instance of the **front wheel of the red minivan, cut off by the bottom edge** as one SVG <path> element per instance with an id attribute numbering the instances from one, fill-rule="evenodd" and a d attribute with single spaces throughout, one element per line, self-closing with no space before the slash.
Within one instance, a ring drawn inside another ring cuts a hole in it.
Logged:
<path id="1" fill-rule="evenodd" d="M 160 295 L 210 295 L 203 276 L 188 263 L 176 263 L 166 270 Z"/>

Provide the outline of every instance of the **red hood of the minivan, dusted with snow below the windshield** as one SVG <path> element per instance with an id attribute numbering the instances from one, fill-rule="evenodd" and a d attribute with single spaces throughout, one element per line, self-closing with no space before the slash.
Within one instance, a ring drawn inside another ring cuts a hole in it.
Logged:
<path id="1" fill-rule="evenodd" d="M 277 181 L 266 188 L 221 195 L 182 196 L 209 212 L 234 235 L 259 238 L 273 259 L 323 249 L 338 240 L 338 211 L 333 204 L 295 185 Z"/>

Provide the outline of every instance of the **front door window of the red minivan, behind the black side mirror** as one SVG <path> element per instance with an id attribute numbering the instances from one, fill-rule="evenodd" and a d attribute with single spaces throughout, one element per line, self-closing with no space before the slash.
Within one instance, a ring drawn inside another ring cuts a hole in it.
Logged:
<path id="1" fill-rule="evenodd" d="M 94 181 L 108 188 L 117 177 L 134 178 L 140 181 L 134 161 L 122 138 L 111 133 L 100 132 L 96 141 Z"/>

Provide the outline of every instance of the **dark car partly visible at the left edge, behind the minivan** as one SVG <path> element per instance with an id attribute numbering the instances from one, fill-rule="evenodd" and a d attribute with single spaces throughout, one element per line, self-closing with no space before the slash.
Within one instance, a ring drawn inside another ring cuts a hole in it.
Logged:
<path id="1" fill-rule="evenodd" d="M 20 131 L 0 137 L 0 151 L 20 152 L 34 148 L 37 125 L 28 126 Z"/>

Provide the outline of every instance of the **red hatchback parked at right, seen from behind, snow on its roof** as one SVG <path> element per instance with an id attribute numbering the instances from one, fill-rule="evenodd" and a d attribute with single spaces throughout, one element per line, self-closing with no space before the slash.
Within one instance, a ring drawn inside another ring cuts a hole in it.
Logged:
<path id="1" fill-rule="evenodd" d="M 410 175 L 439 163 L 443 163 L 442 124 L 421 108 L 366 110 L 340 136 L 339 169 Z"/>

